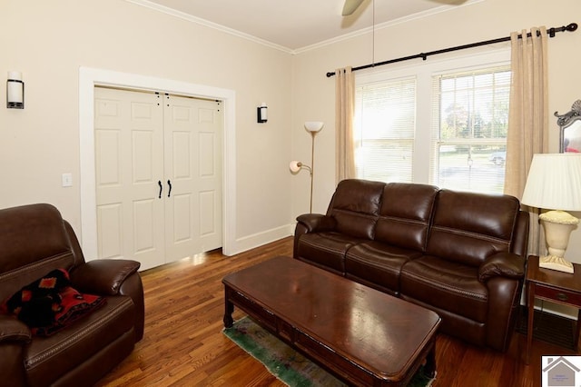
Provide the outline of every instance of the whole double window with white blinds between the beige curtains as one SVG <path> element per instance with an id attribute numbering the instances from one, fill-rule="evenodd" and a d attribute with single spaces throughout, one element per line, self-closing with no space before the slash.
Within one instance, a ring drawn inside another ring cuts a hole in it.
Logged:
<path id="1" fill-rule="evenodd" d="M 502 193 L 509 55 L 356 74 L 358 178 Z"/>

